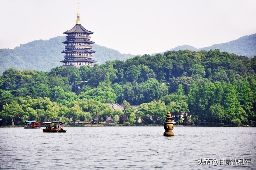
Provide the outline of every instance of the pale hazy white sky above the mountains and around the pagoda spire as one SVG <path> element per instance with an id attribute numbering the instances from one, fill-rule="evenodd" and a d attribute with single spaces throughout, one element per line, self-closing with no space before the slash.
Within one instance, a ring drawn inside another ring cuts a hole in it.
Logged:
<path id="1" fill-rule="evenodd" d="M 0 48 L 63 36 L 77 3 L 91 40 L 121 53 L 202 48 L 256 33 L 256 0 L 0 0 Z"/>

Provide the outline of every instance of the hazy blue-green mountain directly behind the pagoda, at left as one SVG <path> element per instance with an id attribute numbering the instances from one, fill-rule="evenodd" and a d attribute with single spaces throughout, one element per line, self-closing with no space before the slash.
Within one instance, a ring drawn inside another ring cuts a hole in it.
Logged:
<path id="1" fill-rule="evenodd" d="M 65 44 L 62 42 L 65 36 L 58 36 L 49 40 L 35 40 L 22 44 L 14 49 L 0 49 L 0 74 L 12 67 L 18 70 L 50 71 L 56 66 L 61 66 L 60 61 L 64 59 Z M 121 54 L 117 50 L 92 44 L 93 59 L 97 64 L 103 64 L 108 60 L 126 60 L 132 58 L 132 54 Z"/>

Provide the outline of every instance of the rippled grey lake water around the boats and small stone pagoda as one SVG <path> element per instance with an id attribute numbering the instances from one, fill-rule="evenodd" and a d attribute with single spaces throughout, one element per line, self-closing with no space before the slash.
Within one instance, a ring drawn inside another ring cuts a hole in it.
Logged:
<path id="1" fill-rule="evenodd" d="M 0 128 L 0 169 L 256 169 L 256 128 Z"/>

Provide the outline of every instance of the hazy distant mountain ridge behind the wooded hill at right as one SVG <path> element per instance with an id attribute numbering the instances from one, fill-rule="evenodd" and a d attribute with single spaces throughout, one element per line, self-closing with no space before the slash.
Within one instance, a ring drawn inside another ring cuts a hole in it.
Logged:
<path id="1" fill-rule="evenodd" d="M 189 45 L 177 46 L 168 51 L 178 51 L 178 50 L 191 50 L 191 51 L 200 51 L 200 50 L 214 50 L 220 49 L 222 52 L 234 53 L 241 56 L 247 56 L 252 58 L 256 56 L 256 34 L 251 34 L 249 36 L 242 36 L 237 40 L 233 40 L 230 42 L 222 43 L 222 44 L 214 44 L 210 47 L 204 48 L 195 48 Z M 161 54 L 163 54 L 162 52 Z"/>

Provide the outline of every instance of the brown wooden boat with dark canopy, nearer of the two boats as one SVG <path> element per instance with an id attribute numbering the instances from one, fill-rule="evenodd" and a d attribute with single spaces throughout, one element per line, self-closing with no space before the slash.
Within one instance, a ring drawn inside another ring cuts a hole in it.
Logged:
<path id="1" fill-rule="evenodd" d="M 42 122 L 44 125 L 49 125 L 48 127 L 43 128 L 43 132 L 47 133 L 65 133 L 67 130 L 63 129 L 65 122 Z M 52 125 L 52 126 L 51 126 Z"/>

